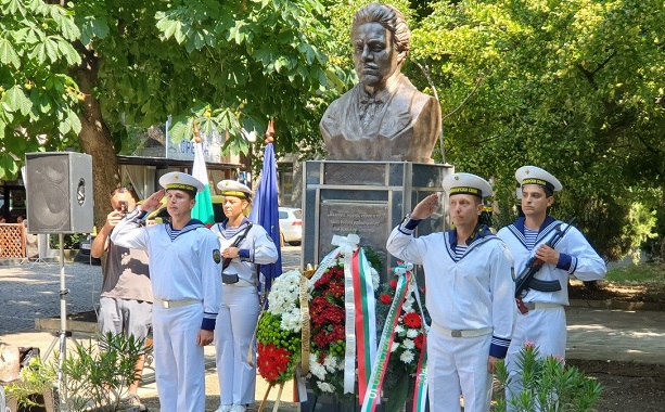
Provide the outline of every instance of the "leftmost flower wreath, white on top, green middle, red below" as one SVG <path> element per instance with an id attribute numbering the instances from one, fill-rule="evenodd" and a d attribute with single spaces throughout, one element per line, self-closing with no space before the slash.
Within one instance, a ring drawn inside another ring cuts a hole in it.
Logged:
<path id="1" fill-rule="evenodd" d="M 299 271 L 292 270 L 274 280 L 268 294 L 268 309 L 258 321 L 258 373 L 271 385 L 292 379 L 300 361 L 300 278 Z"/>

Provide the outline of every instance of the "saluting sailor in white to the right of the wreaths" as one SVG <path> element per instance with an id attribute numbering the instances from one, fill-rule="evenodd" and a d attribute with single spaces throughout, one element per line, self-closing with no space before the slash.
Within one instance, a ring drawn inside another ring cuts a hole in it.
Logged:
<path id="1" fill-rule="evenodd" d="M 453 173 L 443 184 L 456 229 L 414 237 L 422 219 L 438 205 L 432 194 L 393 230 L 387 250 L 422 265 L 426 306 L 430 410 L 487 412 L 496 362 L 506 356 L 514 319 L 512 257 L 503 242 L 478 224 L 489 183 L 474 175 Z"/>

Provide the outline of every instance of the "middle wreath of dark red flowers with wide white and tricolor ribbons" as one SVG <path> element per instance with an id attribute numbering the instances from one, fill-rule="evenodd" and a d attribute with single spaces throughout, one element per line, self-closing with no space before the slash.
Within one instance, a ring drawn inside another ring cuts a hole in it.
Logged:
<path id="1" fill-rule="evenodd" d="M 375 353 L 379 272 L 374 267 L 381 263 L 375 254 L 358 247 L 356 235 L 334 236 L 333 244 L 340 247 L 323 258 L 310 280 L 308 379 L 315 394 L 350 401 L 362 392 Z M 349 337 L 357 345 L 348 346 Z"/>

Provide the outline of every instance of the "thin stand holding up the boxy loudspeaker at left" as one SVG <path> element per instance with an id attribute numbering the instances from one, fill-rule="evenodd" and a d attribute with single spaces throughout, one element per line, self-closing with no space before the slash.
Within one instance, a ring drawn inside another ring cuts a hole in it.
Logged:
<path id="1" fill-rule="evenodd" d="M 49 346 L 42 359 L 48 359 L 55 344 L 60 344 L 57 357 L 57 397 L 60 400 L 60 411 L 67 411 L 67 381 L 63 371 L 67 357 L 67 338 L 72 339 L 76 346 L 78 346 L 78 342 L 72 336 L 72 332 L 67 331 L 67 294 L 69 289 L 65 287 L 65 240 L 62 233 L 59 234 L 57 239 L 60 241 L 60 331 L 53 338 L 53 342 L 51 342 L 51 346 Z"/>

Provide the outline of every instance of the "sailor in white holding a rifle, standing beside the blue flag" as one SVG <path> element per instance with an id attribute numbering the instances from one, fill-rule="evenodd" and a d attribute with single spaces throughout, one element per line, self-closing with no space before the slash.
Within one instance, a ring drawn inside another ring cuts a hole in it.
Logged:
<path id="1" fill-rule="evenodd" d="M 219 237 L 223 258 L 223 298 L 215 333 L 220 397 L 217 411 L 242 412 L 254 403 L 256 390 L 253 336 L 259 313 L 257 265 L 276 262 L 278 250 L 266 230 L 245 217 L 252 190 L 234 180 L 222 180 L 217 188 L 227 217 L 210 228 Z M 252 365 L 247 353 L 253 358 Z"/>

